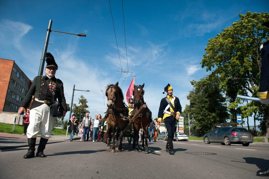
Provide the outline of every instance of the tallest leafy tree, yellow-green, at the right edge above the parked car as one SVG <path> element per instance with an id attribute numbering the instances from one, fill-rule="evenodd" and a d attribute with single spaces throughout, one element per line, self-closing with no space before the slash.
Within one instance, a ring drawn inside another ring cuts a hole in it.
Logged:
<path id="1" fill-rule="evenodd" d="M 239 17 L 239 21 L 209 40 L 201 64 L 211 71 L 212 76 L 219 78 L 220 88 L 231 104 L 232 121 L 236 120 L 239 110 L 245 117 L 258 111 L 269 122 L 268 105 L 250 102 L 246 107 L 243 105 L 245 101 L 236 99 L 238 94 L 258 97 L 260 46 L 269 39 L 269 29 L 261 23 L 269 21 L 269 14 L 246 12 Z"/>

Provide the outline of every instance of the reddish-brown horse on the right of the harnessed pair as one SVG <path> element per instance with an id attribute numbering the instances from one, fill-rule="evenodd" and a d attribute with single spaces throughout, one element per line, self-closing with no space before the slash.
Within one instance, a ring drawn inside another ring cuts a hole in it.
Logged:
<path id="1" fill-rule="evenodd" d="M 133 95 L 134 95 L 134 110 L 132 115 L 134 115 L 135 113 L 137 113 L 137 111 L 139 110 L 139 108 L 143 105 L 146 104 L 144 101 L 144 93 L 145 91 L 143 90 L 144 84 L 143 85 L 138 85 L 135 86 L 134 85 L 134 91 L 133 91 Z M 137 117 L 136 119 L 134 119 L 134 123 L 133 123 L 133 129 L 134 129 L 134 142 L 132 147 L 135 148 L 135 152 L 139 152 L 139 146 L 138 146 L 138 139 L 139 139 L 139 129 L 142 128 L 143 129 L 143 143 L 142 143 L 142 149 L 145 150 L 145 154 L 149 153 L 149 149 L 148 149 L 148 141 L 147 141 L 147 132 L 148 132 L 148 128 L 149 128 L 149 124 L 151 123 L 152 118 L 151 118 L 151 111 L 149 110 L 149 108 L 147 107 L 143 113 L 141 117 Z M 145 138 L 145 148 L 144 148 L 144 138 Z"/>

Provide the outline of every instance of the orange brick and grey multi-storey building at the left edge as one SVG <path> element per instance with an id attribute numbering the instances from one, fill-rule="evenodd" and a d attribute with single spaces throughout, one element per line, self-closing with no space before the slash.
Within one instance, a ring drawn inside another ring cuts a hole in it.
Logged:
<path id="1" fill-rule="evenodd" d="M 0 112 L 17 112 L 32 81 L 14 60 L 0 58 Z"/>

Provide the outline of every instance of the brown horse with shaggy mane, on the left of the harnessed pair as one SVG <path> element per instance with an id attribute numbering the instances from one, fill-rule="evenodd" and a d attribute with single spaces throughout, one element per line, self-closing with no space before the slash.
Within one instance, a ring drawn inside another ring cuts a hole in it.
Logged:
<path id="1" fill-rule="evenodd" d="M 106 135 L 104 136 L 104 141 L 109 139 L 107 145 L 108 149 L 110 149 L 110 141 L 111 138 L 113 137 L 113 145 L 111 152 L 115 152 L 115 148 L 116 150 L 122 151 L 123 130 L 126 127 L 127 121 L 121 119 L 120 113 L 122 113 L 125 116 L 128 116 L 128 109 L 124 105 L 123 93 L 120 87 L 118 86 L 118 82 L 116 84 L 107 85 L 106 97 L 107 97 L 108 109 L 105 115 L 107 130 Z M 118 145 L 118 137 L 120 137 L 119 145 Z M 116 139 L 116 146 L 115 146 L 115 139 Z"/>

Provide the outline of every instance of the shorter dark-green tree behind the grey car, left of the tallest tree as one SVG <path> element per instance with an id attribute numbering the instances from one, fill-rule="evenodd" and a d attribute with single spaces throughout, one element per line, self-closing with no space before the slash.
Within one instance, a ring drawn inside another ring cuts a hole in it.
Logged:
<path id="1" fill-rule="evenodd" d="M 195 129 L 202 134 L 211 131 L 213 124 L 226 122 L 229 117 L 226 99 L 219 89 L 217 78 L 192 80 L 191 84 L 193 90 L 187 96 L 190 105 L 183 113 L 190 113 L 190 119 L 194 119 Z"/>

